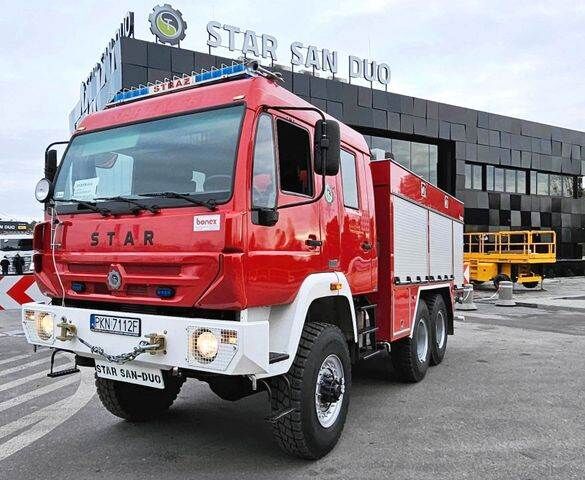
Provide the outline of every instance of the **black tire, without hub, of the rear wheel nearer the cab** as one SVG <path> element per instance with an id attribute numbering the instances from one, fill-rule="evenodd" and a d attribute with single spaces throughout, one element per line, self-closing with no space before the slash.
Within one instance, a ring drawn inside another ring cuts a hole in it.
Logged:
<path id="1" fill-rule="evenodd" d="M 417 355 L 416 338 L 419 328 L 419 321 L 425 322 L 427 332 L 431 332 L 431 322 L 427 304 L 423 299 L 418 301 L 416 318 L 412 338 L 406 337 L 392 343 L 390 358 L 394 373 L 403 382 L 415 383 L 420 382 L 426 375 L 431 359 L 430 345 L 424 361 L 419 361 Z M 430 335 L 428 335 L 430 339 Z M 429 342 L 430 343 L 430 342 Z"/>

